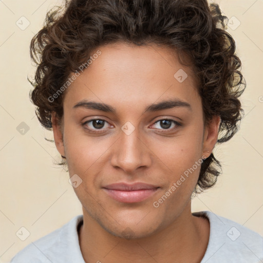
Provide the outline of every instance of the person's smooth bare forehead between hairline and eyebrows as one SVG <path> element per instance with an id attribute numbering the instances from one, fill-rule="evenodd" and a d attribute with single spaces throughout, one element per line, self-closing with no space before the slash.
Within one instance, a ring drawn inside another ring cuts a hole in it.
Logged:
<path id="1" fill-rule="evenodd" d="M 198 99 L 192 69 L 180 64 L 175 50 L 126 43 L 101 46 L 93 53 L 98 50 L 100 55 L 70 84 L 64 105 L 88 99 L 134 108 L 164 99 Z"/>

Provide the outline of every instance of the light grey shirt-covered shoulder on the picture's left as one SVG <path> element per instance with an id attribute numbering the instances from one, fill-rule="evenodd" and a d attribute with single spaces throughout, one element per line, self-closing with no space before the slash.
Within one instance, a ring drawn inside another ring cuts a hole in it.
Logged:
<path id="1" fill-rule="evenodd" d="M 18 252 L 10 263 L 66 262 L 69 257 L 81 256 L 77 227 L 82 220 L 83 215 L 73 217 L 61 228 L 31 242 Z M 82 263 L 82 261 L 76 262 Z"/>

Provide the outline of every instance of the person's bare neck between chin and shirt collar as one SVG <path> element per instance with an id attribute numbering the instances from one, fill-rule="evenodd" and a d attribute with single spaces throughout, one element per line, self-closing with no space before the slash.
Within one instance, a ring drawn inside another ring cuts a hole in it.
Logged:
<path id="1" fill-rule="evenodd" d="M 143 238 L 125 239 L 114 236 L 104 230 L 84 209 L 83 222 L 79 240 L 86 263 L 198 263 L 209 242 L 209 220 L 193 216 L 191 203 L 170 226 Z"/>

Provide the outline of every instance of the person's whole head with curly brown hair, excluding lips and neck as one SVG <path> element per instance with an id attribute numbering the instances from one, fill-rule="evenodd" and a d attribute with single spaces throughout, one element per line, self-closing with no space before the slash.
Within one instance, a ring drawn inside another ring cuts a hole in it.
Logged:
<path id="1" fill-rule="evenodd" d="M 245 88 L 225 19 L 206 0 L 72 0 L 33 37 L 37 118 L 108 232 L 149 235 L 216 183 L 213 148 L 237 132 Z M 105 192 L 117 182 L 157 190 L 120 202 Z"/>

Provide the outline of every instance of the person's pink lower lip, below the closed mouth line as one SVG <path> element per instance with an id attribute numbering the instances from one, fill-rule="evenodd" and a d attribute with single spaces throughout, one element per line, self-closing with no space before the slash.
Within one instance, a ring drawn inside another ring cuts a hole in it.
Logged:
<path id="1" fill-rule="evenodd" d="M 135 203 L 135 202 L 141 202 L 150 196 L 154 195 L 154 193 L 157 191 L 157 188 L 155 189 L 143 189 L 143 190 L 137 190 L 137 191 L 120 191 L 120 190 L 111 190 L 106 189 L 104 190 L 107 192 L 107 194 L 112 197 L 113 199 L 123 202 L 123 203 Z"/>

